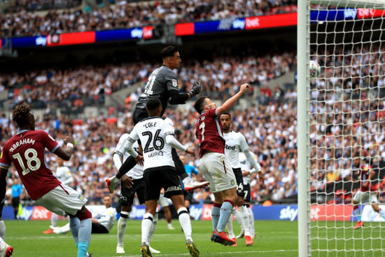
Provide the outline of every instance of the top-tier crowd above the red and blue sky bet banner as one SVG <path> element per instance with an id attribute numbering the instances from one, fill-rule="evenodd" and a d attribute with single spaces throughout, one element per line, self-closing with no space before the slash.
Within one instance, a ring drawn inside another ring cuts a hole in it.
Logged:
<path id="1" fill-rule="evenodd" d="M 126 3 L 82 10 L 69 9 L 78 1 L 24 0 L 15 1 L 19 7 L 11 8 L 15 13 L 0 14 L 0 38 L 15 36 L 40 36 L 90 30 L 122 29 L 146 25 L 172 24 L 219 20 L 223 18 L 271 15 L 297 11 L 296 0 L 274 1 L 150 1 Z M 58 4 L 59 3 L 59 4 Z M 44 14 L 29 12 L 33 6 L 66 6 Z"/>

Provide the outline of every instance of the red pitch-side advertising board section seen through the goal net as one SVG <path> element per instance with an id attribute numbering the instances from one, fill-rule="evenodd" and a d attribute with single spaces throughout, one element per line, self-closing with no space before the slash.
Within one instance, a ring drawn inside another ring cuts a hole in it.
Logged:
<path id="1" fill-rule="evenodd" d="M 311 221 L 350 221 L 351 204 L 313 204 L 310 209 Z"/>

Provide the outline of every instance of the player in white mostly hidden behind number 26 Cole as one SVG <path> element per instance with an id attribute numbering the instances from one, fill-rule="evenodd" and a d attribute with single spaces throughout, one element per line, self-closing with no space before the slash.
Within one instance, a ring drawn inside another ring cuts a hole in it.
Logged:
<path id="1" fill-rule="evenodd" d="M 122 163 L 130 156 L 127 151 L 125 151 L 125 143 L 127 142 L 127 138 L 129 134 L 123 134 L 118 144 L 116 145 L 115 152 L 113 153 L 113 163 L 116 166 L 116 169 L 120 169 Z M 133 145 L 134 150 L 139 153 L 139 145 L 136 141 Z M 122 162 L 123 158 L 123 162 Z M 138 200 L 140 204 L 144 204 L 144 179 L 143 179 L 143 167 L 141 165 L 135 165 L 132 169 L 130 169 L 127 174 L 122 176 L 122 188 L 120 191 L 120 218 L 118 221 L 118 245 L 116 246 L 116 253 L 125 253 L 123 237 L 125 236 L 125 230 L 127 227 L 127 220 L 130 217 L 130 211 L 132 210 L 132 204 L 134 202 L 135 193 L 137 193 Z M 151 232 L 149 237 L 153 236 L 155 232 L 156 225 L 158 223 L 158 210 L 155 213 L 155 217 L 153 219 L 153 225 L 151 226 Z M 151 246 L 149 246 L 151 252 L 160 253 Z"/>

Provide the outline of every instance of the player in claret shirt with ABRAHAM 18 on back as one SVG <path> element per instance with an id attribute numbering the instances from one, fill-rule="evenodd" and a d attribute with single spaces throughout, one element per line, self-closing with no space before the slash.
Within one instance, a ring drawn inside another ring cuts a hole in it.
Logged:
<path id="1" fill-rule="evenodd" d="M 87 256 L 92 218 L 91 212 L 85 208 L 87 199 L 60 182 L 45 165 L 45 148 L 59 158 L 69 160 L 73 153 L 73 138 L 64 139 L 64 149 L 44 130 L 35 130 L 35 117 L 29 106 L 16 106 L 12 120 L 18 125 L 19 132 L 4 143 L 0 158 L 0 182 L 6 180 L 12 163 L 32 200 L 60 216 L 69 214 L 78 257 Z"/>

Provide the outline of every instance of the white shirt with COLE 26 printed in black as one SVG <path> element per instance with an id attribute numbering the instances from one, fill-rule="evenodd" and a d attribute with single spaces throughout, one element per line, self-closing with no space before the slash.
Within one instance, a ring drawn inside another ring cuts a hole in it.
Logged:
<path id="1" fill-rule="evenodd" d="M 174 135 L 174 123 L 166 117 L 151 116 L 135 125 L 127 140 L 133 142 L 141 140 L 144 156 L 144 171 L 146 169 L 171 166 L 172 147 L 166 143 L 166 136 Z"/>

